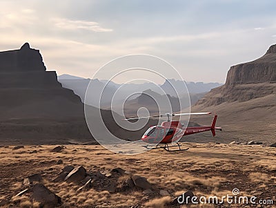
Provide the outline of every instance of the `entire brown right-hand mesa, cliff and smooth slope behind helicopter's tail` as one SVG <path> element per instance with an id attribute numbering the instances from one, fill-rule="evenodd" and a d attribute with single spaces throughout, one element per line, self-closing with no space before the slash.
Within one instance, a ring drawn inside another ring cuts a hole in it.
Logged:
<path id="1" fill-rule="evenodd" d="M 266 144 L 276 138 L 276 45 L 270 46 L 263 57 L 253 62 L 232 66 L 226 84 L 214 88 L 194 106 L 193 111 L 217 113 L 217 125 L 223 130 L 215 140 L 248 142 L 259 140 Z M 192 117 L 199 124 L 208 124 L 208 117 Z M 208 134 L 188 140 L 204 142 Z"/>

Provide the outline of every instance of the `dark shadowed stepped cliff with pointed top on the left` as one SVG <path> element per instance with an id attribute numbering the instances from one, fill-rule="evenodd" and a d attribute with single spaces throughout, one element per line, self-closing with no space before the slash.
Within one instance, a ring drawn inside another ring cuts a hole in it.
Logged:
<path id="1" fill-rule="evenodd" d="M 91 138 L 80 98 L 61 87 L 28 43 L 0 52 L 0 129 L 8 143 Z"/>

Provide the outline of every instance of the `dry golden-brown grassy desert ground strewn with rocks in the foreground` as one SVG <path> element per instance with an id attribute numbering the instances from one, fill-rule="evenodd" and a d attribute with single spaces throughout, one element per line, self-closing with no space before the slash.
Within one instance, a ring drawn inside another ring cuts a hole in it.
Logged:
<path id="1" fill-rule="evenodd" d="M 275 207 L 173 202 L 189 190 L 197 197 L 220 198 L 233 195 L 233 189 L 239 189 L 240 196 L 256 196 L 256 202 L 276 200 L 275 148 L 215 142 L 181 145 L 190 149 L 121 155 L 100 145 L 66 145 L 56 151 L 52 145 L 1 146 L 0 207 Z M 68 165 L 82 166 L 86 179 L 64 181 L 62 170 Z M 126 185 L 132 176 L 145 177 L 146 187 Z M 59 204 L 35 200 L 38 184 L 59 196 Z"/>

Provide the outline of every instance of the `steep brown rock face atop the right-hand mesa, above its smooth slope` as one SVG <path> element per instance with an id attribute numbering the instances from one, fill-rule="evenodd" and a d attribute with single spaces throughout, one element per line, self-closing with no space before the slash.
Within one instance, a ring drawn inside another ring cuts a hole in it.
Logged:
<path id="1" fill-rule="evenodd" d="M 213 106 L 223 102 L 245 102 L 276 94 L 276 45 L 253 62 L 231 66 L 226 83 L 207 93 L 196 105 Z"/>

